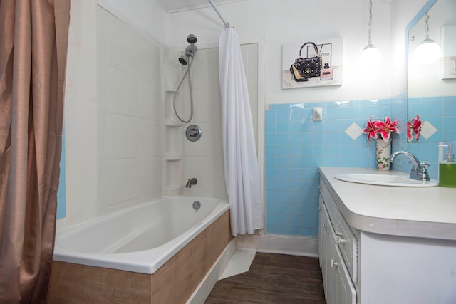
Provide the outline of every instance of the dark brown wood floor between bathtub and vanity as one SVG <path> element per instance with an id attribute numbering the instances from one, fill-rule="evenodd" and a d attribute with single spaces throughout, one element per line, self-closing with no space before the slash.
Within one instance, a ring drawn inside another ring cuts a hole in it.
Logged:
<path id="1" fill-rule="evenodd" d="M 318 258 L 257 253 L 247 273 L 217 281 L 205 304 L 326 304 Z"/>

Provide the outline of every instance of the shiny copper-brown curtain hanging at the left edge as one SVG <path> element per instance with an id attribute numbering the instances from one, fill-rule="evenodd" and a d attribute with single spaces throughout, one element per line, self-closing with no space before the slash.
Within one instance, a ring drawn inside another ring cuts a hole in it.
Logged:
<path id="1" fill-rule="evenodd" d="M 0 0 L 0 303 L 46 303 L 70 0 Z"/>

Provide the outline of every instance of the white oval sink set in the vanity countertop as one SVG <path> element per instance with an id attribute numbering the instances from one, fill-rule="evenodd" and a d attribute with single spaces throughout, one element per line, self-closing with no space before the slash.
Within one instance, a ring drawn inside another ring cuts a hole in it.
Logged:
<path id="1" fill-rule="evenodd" d="M 344 182 L 355 182 L 358 184 L 375 184 L 380 186 L 394 187 L 435 187 L 438 182 L 434 179 L 430 181 L 419 181 L 410 179 L 408 174 L 400 172 L 375 172 L 375 173 L 344 173 L 336 174 L 336 179 Z"/>

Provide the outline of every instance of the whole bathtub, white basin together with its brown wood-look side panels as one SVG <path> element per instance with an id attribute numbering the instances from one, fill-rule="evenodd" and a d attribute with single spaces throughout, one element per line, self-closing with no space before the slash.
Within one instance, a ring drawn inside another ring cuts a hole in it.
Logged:
<path id="1" fill-rule="evenodd" d="M 201 303 L 232 244 L 227 201 L 176 196 L 117 211 L 57 232 L 47 303 Z"/>

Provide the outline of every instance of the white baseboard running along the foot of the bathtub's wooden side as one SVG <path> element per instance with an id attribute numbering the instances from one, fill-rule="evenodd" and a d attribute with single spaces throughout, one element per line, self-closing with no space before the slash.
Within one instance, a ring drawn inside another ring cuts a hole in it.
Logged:
<path id="1" fill-rule="evenodd" d="M 195 292 L 187 300 L 187 304 L 204 303 L 209 296 L 209 293 L 211 293 L 212 288 L 214 288 L 215 283 L 217 283 L 219 276 L 223 273 L 229 260 L 231 260 L 234 255 L 234 251 L 236 251 L 236 241 L 235 239 L 232 239 L 227 247 L 224 248 L 224 251 L 220 254 L 219 258 L 217 258 L 214 265 L 209 269 L 206 276 L 204 276 L 201 283 L 199 283 Z"/>

